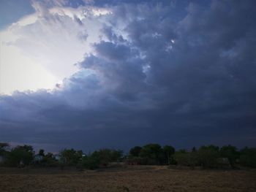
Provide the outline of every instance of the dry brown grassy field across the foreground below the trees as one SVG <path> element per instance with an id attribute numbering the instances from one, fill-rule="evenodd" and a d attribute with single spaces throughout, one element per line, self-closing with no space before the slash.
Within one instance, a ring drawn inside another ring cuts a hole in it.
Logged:
<path id="1" fill-rule="evenodd" d="M 256 191 L 255 170 L 0 168 L 0 191 Z"/>

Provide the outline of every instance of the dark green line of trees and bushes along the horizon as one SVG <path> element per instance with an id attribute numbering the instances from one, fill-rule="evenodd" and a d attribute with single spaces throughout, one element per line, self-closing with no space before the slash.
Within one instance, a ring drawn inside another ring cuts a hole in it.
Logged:
<path id="1" fill-rule="evenodd" d="M 244 147 L 238 150 L 232 145 L 218 147 L 215 145 L 201 146 L 198 149 L 178 150 L 170 145 L 161 146 L 148 144 L 143 147 L 135 146 L 124 155 L 122 150 L 102 149 L 85 154 L 82 150 L 64 149 L 58 155 L 39 150 L 35 153 L 30 145 L 10 148 L 5 142 L 0 142 L 1 166 L 76 166 L 85 169 L 106 167 L 111 162 L 124 162 L 133 165 L 178 165 L 202 166 L 218 168 L 229 166 L 249 166 L 256 168 L 256 148 Z"/>

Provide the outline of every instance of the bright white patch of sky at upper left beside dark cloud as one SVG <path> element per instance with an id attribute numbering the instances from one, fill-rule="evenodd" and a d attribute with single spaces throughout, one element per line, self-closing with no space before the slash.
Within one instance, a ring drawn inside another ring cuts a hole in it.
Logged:
<path id="1" fill-rule="evenodd" d="M 101 17 L 110 10 L 63 7 L 63 1 L 56 2 L 49 8 L 32 1 L 36 12 L 0 31 L 0 93 L 55 88 L 78 72 L 75 64 L 93 52 L 91 45 L 102 38 Z"/>

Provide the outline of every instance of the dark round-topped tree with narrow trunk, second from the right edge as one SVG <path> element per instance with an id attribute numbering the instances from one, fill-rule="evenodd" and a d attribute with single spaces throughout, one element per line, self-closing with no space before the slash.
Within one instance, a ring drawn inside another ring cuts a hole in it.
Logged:
<path id="1" fill-rule="evenodd" d="M 234 166 L 236 163 L 236 159 L 239 158 L 239 153 L 237 148 L 231 145 L 223 146 L 219 150 L 219 153 L 222 158 L 228 158 L 228 161 L 230 162 L 231 166 Z"/>

